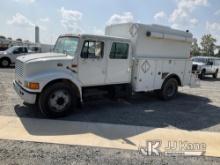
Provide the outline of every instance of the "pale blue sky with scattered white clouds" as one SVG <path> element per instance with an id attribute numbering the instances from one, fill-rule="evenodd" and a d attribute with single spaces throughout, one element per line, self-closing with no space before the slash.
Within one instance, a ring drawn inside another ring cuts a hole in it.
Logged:
<path id="1" fill-rule="evenodd" d="M 108 24 L 140 22 L 211 33 L 220 44 L 220 0 L 1 0 L 0 35 L 54 43 L 64 33 L 104 34 Z"/>

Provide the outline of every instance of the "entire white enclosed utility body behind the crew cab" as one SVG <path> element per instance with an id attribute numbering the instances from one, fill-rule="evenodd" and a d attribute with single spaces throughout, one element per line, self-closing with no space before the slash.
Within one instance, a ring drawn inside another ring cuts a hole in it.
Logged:
<path id="1" fill-rule="evenodd" d="M 132 85 L 136 92 L 160 89 L 168 77 L 179 85 L 196 86 L 190 50 L 192 34 L 160 25 L 126 23 L 106 27 L 106 35 L 132 43 Z"/>

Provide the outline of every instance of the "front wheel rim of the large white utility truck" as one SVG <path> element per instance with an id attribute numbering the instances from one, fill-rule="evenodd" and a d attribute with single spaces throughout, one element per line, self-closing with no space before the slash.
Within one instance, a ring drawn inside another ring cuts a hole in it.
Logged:
<path id="1" fill-rule="evenodd" d="M 70 104 L 70 95 L 65 90 L 55 91 L 49 97 L 49 107 L 52 111 L 63 112 L 69 108 Z"/>

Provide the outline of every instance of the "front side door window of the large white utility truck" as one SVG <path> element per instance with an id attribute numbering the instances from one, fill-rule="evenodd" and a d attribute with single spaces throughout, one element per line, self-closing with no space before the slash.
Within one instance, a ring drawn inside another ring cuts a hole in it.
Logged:
<path id="1" fill-rule="evenodd" d="M 102 58 L 104 42 L 86 40 L 83 44 L 81 58 Z"/>

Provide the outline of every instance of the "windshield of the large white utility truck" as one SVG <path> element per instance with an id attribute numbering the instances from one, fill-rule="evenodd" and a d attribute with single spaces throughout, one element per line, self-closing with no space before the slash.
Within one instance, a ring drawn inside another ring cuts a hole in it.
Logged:
<path id="1" fill-rule="evenodd" d="M 54 46 L 55 53 L 63 53 L 74 56 L 78 46 L 79 38 L 77 37 L 60 37 Z"/>

